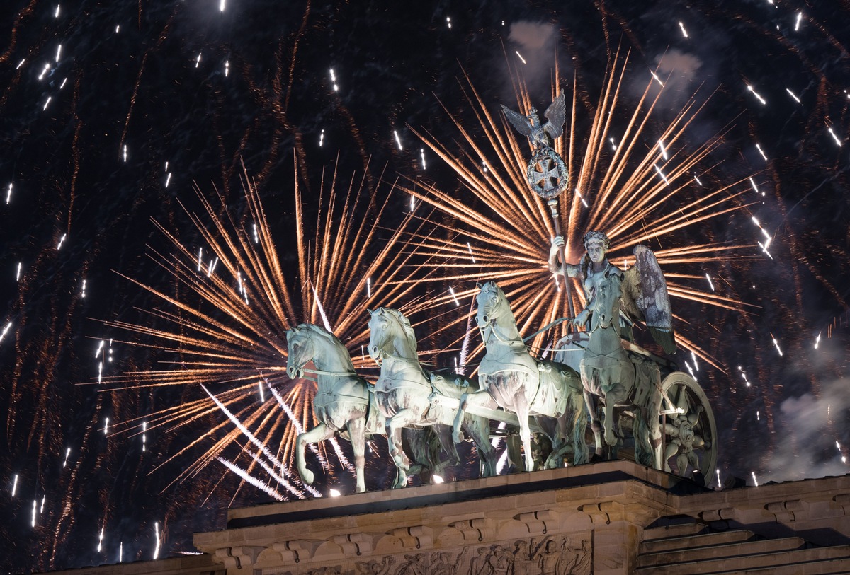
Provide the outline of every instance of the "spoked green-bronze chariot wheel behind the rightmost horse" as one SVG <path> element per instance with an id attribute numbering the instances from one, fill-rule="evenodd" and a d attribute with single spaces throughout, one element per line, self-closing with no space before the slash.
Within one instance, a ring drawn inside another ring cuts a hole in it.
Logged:
<path id="1" fill-rule="evenodd" d="M 699 471 L 706 485 L 717 469 L 717 425 L 706 393 L 693 377 L 673 371 L 661 382 L 660 445 L 655 468 L 689 477 Z"/>

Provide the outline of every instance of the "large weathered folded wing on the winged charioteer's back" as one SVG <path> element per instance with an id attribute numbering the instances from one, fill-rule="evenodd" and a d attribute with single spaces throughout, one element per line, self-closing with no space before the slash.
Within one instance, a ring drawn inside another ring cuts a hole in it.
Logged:
<path id="1" fill-rule="evenodd" d="M 666 354 L 675 354 L 673 315 L 664 274 L 651 249 L 637 246 L 634 254 L 635 265 L 626 270 L 623 281 L 621 306 L 646 324 Z"/>

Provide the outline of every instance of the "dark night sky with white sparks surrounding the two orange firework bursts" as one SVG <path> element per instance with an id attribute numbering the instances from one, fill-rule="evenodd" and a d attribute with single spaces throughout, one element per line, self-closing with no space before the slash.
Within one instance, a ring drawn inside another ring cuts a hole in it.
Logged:
<path id="1" fill-rule="evenodd" d="M 391 230 L 407 196 L 380 194 L 397 179 L 467 193 L 413 131 L 466 154 L 451 116 L 476 125 L 470 84 L 496 115 L 501 103 L 519 108 L 520 75 L 545 109 L 557 62 L 570 94 L 575 78 L 578 126 L 589 126 L 618 50 L 628 53 L 617 104 L 626 116 L 653 73 L 665 82 L 657 125 L 694 92 L 711 97 L 683 138 L 698 145 L 723 133 L 700 173 L 710 187 L 744 192 L 740 212 L 678 237 L 746 246 L 737 260 L 665 268 L 704 291 L 707 274 L 732 301 L 722 310 L 673 301 L 689 323 L 677 330 L 717 364 L 701 361 L 699 380 L 717 417 L 721 472 L 750 484 L 847 472 L 850 3 L 456 4 L 3 3 L 0 570 L 150 559 L 158 532 L 160 557 L 192 551 L 192 533 L 224 528 L 229 506 L 270 500 L 214 458 L 181 475 L 209 449 L 195 438 L 232 431 L 221 413 L 156 427 L 143 443 L 145 417 L 204 397 L 199 388 L 98 384 L 99 371 L 132 381 L 161 361 L 180 368 L 156 338 L 114 327 L 167 323 L 145 312 L 161 299 L 131 280 L 186 295 L 149 257 L 174 250 L 155 222 L 194 250 L 203 242 L 188 214 L 204 209 L 199 195 L 219 218 L 239 220 L 246 175 L 301 293 L 296 182 L 313 217 L 334 170 L 341 198 L 363 181 L 354 196 L 388 198 L 381 226 Z M 769 256 L 758 245 L 768 237 Z M 427 333 L 433 325 L 419 319 Z M 134 423 L 107 427 L 122 421 Z"/>

